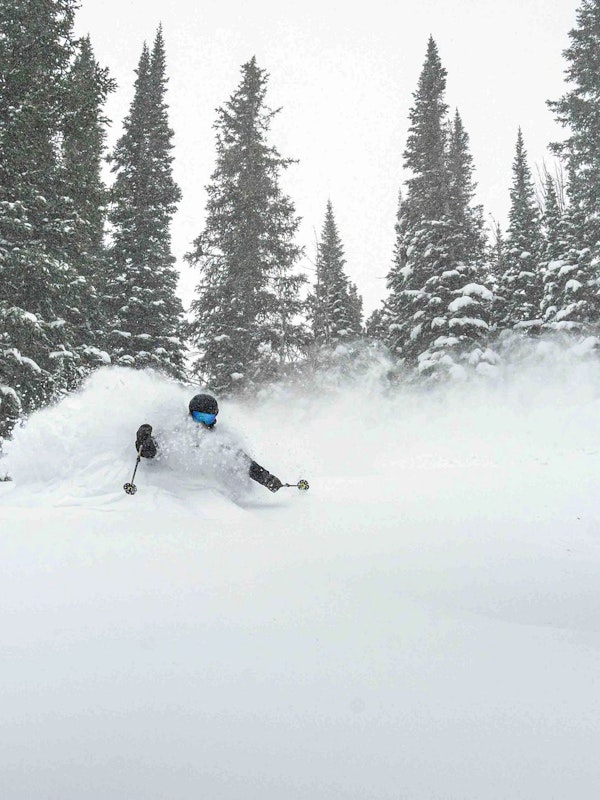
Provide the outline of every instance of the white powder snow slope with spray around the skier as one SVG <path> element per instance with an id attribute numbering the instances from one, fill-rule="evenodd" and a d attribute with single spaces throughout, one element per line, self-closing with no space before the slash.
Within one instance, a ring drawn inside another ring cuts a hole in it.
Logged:
<path id="1" fill-rule="evenodd" d="M 151 373 L 103 368 L 17 431 L 2 797 L 598 797 L 593 353 L 540 345 L 425 393 L 375 366 L 222 403 L 307 493 L 211 473 L 193 391 Z M 130 497 L 142 422 L 166 449 Z"/>

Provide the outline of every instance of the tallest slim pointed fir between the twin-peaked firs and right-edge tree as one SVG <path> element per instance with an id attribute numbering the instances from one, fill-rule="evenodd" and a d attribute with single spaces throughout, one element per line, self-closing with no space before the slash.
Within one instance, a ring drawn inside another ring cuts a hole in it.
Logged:
<path id="1" fill-rule="evenodd" d="M 499 276 L 500 328 L 539 329 L 541 324 L 542 229 L 535 187 L 519 128 L 512 167 L 509 224 L 505 240 L 506 268 Z"/>

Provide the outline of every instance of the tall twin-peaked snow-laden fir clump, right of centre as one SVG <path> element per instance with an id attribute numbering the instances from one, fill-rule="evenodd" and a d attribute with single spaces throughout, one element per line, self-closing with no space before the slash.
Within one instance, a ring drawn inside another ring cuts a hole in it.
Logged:
<path id="1" fill-rule="evenodd" d="M 482 282 L 481 211 L 472 205 L 468 136 L 458 113 L 448 124 L 445 88 L 446 70 L 430 38 L 410 111 L 404 153 L 410 177 L 382 316 L 388 347 L 425 374 L 452 371 L 470 354 L 480 358 L 492 300 Z"/>

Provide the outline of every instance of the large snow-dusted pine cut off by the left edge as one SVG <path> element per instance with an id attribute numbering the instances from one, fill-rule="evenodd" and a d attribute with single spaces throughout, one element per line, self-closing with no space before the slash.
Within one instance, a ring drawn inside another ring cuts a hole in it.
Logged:
<path id="1" fill-rule="evenodd" d="M 64 166 L 76 0 L 0 2 L 0 430 L 81 375 L 80 227 Z"/>

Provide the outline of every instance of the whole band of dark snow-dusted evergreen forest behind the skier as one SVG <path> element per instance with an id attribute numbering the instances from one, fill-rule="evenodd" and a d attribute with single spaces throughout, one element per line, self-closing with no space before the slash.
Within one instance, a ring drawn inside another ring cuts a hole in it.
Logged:
<path id="1" fill-rule="evenodd" d="M 582 0 L 564 52 L 567 89 L 548 105 L 561 165 L 534 179 L 516 133 L 510 211 L 490 230 L 469 134 L 445 100 L 436 41 L 413 93 L 406 174 L 390 227 L 386 295 L 364 318 L 330 201 L 314 279 L 281 187 L 293 163 L 272 141 L 267 71 L 255 58 L 216 112 L 214 171 L 177 295 L 168 64 L 162 28 L 141 44 L 122 133 L 107 148 L 115 90 L 76 0 L 0 0 L 0 444 L 95 369 L 152 369 L 219 396 L 316 368 L 359 371 L 375 354 L 390 385 L 493 375 L 546 335 L 594 352 L 600 323 L 600 0 Z M 105 165 L 111 180 L 106 181 Z"/>

